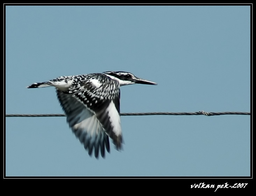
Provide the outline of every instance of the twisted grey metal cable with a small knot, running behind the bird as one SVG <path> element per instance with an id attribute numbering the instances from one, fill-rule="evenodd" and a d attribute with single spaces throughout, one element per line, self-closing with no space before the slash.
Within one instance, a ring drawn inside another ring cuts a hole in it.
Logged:
<path id="1" fill-rule="evenodd" d="M 141 113 L 121 113 L 121 116 L 152 116 L 152 115 L 175 115 L 175 116 L 220 116 L 220 115 L 251 115 L 251 112 L 141 112 Z M 63 117 L 65 114 L 6 114 L 5 117 Z"/>

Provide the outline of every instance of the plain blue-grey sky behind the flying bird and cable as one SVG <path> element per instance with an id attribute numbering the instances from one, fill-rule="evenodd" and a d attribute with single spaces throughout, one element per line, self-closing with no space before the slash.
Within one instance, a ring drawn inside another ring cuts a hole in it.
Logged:
<path id="1" fill-rule="evenodd" d="M 6 6 L 6 114 L 63 113 L 59 76 L 128 71 L 121 112 L 250 112 L 250 6 Z M 122 116 L 90 157 L 65 117 L 6 117 L 6 176 L 250 176 L 250 116 Z"/>

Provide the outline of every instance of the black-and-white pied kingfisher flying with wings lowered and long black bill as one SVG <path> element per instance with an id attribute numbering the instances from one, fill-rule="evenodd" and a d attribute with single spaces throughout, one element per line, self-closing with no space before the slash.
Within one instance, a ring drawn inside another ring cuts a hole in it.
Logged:
<path id="1" fill-rule="evenodd" d="M 120 86 L 157 85 L 125 71 L 106 71 L 77 76 L 61 76 L 27 88 L 54 86 L 58 100 L 73 133 L 84 144 L 88 154 L 105 157 L 110 151 L 109 137 L 121 149 Z"/>

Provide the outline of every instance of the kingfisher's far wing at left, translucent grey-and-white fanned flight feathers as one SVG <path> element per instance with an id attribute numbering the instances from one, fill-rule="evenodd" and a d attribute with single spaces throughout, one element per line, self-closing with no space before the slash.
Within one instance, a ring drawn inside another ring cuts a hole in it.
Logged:
<path id="1" fill-rule="evenodd" d="M 57 96 L 67 115 L 67 123 L 79 141 L 84 144 L 88 154 L 91 156 L 94 149 L 95 157 L 98 158 L 101 149 L 101 156 L 105 157 L 105 148 L 109 152 L 109 138 L 96 115 L 72 97 L 72 94 L 57 90 Z"/>

